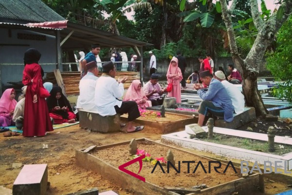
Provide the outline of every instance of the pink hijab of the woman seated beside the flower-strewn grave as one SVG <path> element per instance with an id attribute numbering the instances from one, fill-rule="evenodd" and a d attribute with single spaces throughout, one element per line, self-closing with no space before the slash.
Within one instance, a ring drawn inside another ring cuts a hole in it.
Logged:
<path id="1" fill-rule="evenodd" d="M 129 89 L 124 97 L 124 101 L 137 101 L 137 100 L 140 100 L 142 98 L 147 99 L 142 88 L 140 89 L 140 91 L 138 91 L 139 84 L 141 84 L 140 80 L 133 80 L 133 82 L 131 83 L 131 85 L 130 85 L 130 87 L 129 87 Z"/>

